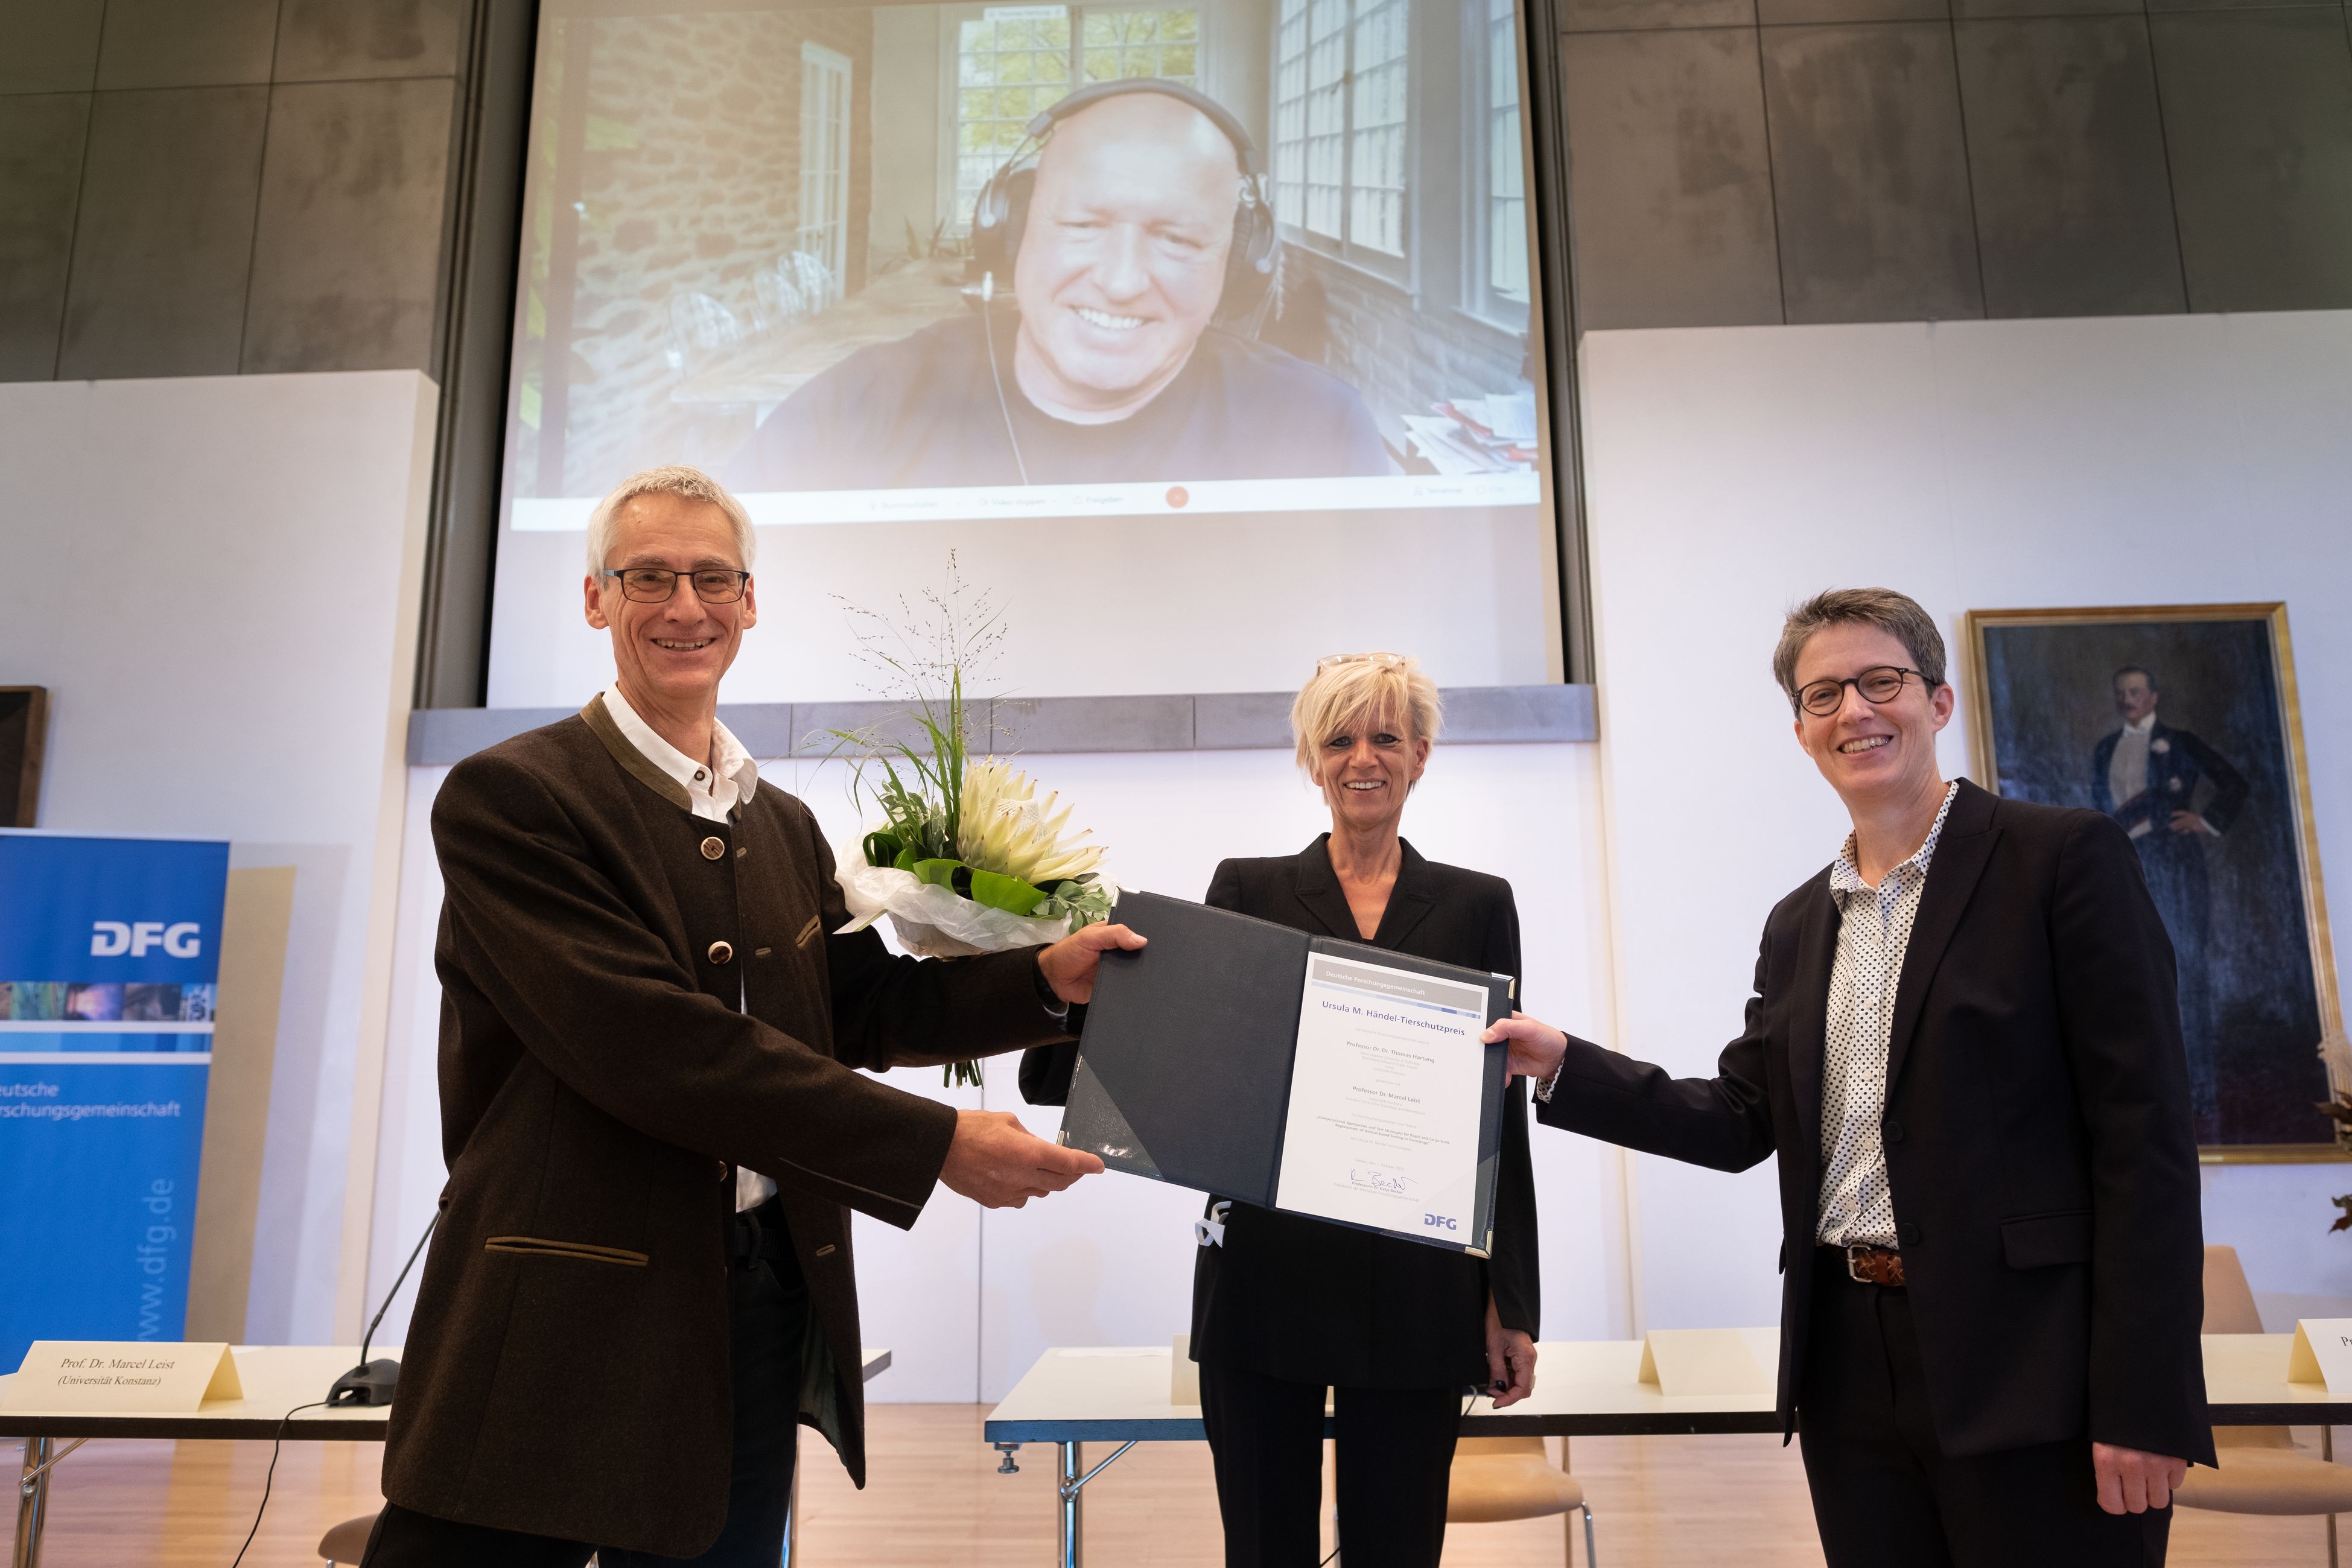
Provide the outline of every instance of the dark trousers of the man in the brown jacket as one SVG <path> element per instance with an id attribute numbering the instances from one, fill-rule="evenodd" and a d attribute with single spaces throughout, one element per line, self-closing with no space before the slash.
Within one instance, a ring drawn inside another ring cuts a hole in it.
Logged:
<path id="1" fill-rule="evenodd" d="M 800 1420 L 800 1361 L 809 1333 L 809 1286 L 769 1199 L 736 1215 L 736 1267 L 729 1274 L 734 1312 L 734 1465 L 727 1481 L 727 1526 L 701 1556 L 656 1556 L 595 1547 L 581 1540 L 456 1523 L 386 1502 L 367 1537 L 367 1568 L 776 1568 L 783 1523 L 793 1505 L 793 1436 Z"/>

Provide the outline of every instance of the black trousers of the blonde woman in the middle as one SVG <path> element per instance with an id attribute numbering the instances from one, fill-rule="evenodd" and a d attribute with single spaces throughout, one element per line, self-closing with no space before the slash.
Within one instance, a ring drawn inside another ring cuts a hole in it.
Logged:
<path id="1" fill-rule="evenodd" d="M 1225 1568 L 1322 1561 L 1322 1385 L 1200 1368 Z M 1345 1568 L 1437 1568 L 1461 1389 L 1334 1389 Z"/>

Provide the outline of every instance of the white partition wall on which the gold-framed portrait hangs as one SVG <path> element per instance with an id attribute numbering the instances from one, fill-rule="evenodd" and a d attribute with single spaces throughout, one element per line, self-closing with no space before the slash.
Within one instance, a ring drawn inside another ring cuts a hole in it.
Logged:
<path id="1" fill-rule="evenodd" d="M 1583 376 L 1611 1044 L 1712 1072 L 1764 912 L 1846 832 L 1769 675 L 1783 607 L 1830 585 L 1915 595 L 1955 663 L 1969 609 L 2284 599 L 2352 898 L 2352 313 L 1595 331 Z M 1940 755 L 1969 769 L 1966 724 Z M 1769 1168 L 1635 1164 L 1644 1321 L 1773 1321 Z M 2352 1298 L 2347 1187 L 2206 1171 L 2272 1316 Z"/>

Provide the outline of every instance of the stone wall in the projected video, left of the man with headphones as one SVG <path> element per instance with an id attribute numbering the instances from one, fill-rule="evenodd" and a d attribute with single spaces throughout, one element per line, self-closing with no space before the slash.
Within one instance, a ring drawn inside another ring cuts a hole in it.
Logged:
<path id="1" fill-rule="evenodd" d="M 581 26 L 567 21 L 562 26 Z M 579 186 L 576 287 L 564 376 L 562 491 L 593 496 L 647 463 L 720 463 L 750 437 L 750 404 L 675 402 L 694 369 L 670 301 L 703 294 L 753 331 L 753 275 L 776 266 L 800 228 L 802 42 L 849 56 L 849 233 L 868 223 L 873 167 L 873 19 L 863 12 L 720 12 L 588 24 L 588 103 Z M 553 56 L 557 49 L 548 47 Z M 562 113 L 548 108 L 548 115 Z M 539 127 L 541 146 L 557 134 Z M 847 289 L 866 282 L 866 247 L 847 247 Z M 560 280 L 550 280 L 560 287 Z M 684 360 L 673 364 L 673 355 Z M 527 489 L 524 494 L 548 494 Z"/>

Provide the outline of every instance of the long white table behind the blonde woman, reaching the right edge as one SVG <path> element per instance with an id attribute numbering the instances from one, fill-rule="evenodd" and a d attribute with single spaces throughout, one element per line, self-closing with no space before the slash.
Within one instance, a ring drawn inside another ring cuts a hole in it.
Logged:
<path id="1" fill-rule="evenodd" d="M 1536 1392 L 1510 1410 L 1472 1399 L 1463 1436 L 1663 1436 L 1703 1432 L 1778 1432 L 1771 1375 L 1780 1361 L 1776 1328 L 1743 1328 L 1764 1368 L 1764 1387 L 1745 1396 L 1670 1399 L 1642 1382 L 1642 1340 L 1545 1340 L 1536 1347 Z M 2206 1335 L 2206 1408 L 2216 1427 L 2333 1425 L 2352 1420 L 2352 1394 L 2328 1394 L 2286 1380 L 2286 1333 Z M 1207 1441 L 1197 1403 L 1174 1401 L 1174 1352 L 1164 1345 L 1049 1349 L 988 1413 L 983 1436 L 1016 1469 L 1021 1443 L 1056 1446 L 1061 1568 L 1084 1561 L 1080 1490 L 1136 1443 Z M 1329 1418 L 1324 1434 L 1329 1436 Z M 1120 1443 L 1084 1469 L 1084 1443 Z"/>

